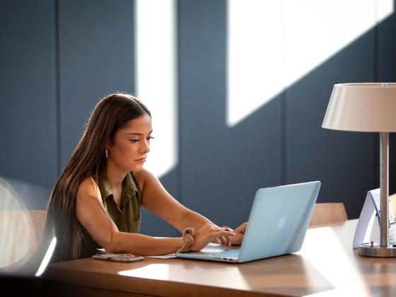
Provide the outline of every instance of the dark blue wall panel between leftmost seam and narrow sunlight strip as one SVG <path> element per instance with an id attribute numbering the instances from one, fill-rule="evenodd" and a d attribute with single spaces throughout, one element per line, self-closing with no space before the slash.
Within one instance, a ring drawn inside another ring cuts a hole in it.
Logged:
<path id="1" fill-rule="evenodd" d="M 98 98 L 134 92 L 134 5 L 129 0 L 59 1 L 58 16 L 63 168 Z"/>

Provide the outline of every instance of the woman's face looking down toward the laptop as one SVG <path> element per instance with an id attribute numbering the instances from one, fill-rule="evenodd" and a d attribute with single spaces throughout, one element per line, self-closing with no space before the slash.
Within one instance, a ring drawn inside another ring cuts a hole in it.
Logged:
<path id="1" fill-rule="evenodd" d="M 138 172 L 150 151 L 151 117 L 142 115 L 130 120 L 115 133 L 114 144 L 107 146 L 107 163 L 123 171 Z"/>

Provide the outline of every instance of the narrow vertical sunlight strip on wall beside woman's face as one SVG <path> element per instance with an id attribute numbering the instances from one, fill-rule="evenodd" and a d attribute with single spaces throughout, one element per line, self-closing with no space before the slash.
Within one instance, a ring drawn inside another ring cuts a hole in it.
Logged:
<path id="1" fill-rule="evenodd" d="M 175 19 L 174 0 L 135 1 L 136 95 L 153 118 L 145 167 L 157 177 L 177 163 Z"/>

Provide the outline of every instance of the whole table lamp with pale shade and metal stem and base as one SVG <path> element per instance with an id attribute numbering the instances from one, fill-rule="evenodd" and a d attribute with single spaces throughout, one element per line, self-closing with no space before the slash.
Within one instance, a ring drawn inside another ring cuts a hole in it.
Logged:
<path id="1" fill-rule="evenodd" d="M 361 243 L 359 255 L 396 257 L 389 243 L 389 132 L 396 132 L 396 83 L 334 85 L 323 120 L 325 129 L 380 133 L 380 243 Z"/>

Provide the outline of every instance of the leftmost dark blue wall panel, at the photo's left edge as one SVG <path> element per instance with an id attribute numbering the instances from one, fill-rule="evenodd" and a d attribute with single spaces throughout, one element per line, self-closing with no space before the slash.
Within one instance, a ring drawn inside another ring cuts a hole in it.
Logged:
<path id="1" fill-rule="evenodd" d="M 59 154 L 54 11 L 53 0 L 0 1 L 0 176 L 45 189 Z"/>

